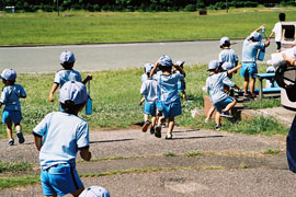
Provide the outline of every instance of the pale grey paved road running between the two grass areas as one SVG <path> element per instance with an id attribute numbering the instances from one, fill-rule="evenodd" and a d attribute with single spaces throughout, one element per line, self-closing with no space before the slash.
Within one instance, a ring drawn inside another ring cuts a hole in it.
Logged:
<path id="1" fill-rule="evenodd" d="M 241 57 L 242 40 L 235 40 L 232 48 Z M 155 62 L 160 55 L 168 54 L 173 60 L 184 60 L 186 65 L 207 63 L 217 59 L 220 51 L 218 40 L 98 44 L 42 47 L 0 47 L 0 70 L 14 68 L 18 72 L 54 72 L 60 69 L 59 55 L 68 49 L 75 53 L 79 71 L 107 70 L 141 67 Z M 266 50 L 266 60 L 275 49 L 275 44 Z"/>

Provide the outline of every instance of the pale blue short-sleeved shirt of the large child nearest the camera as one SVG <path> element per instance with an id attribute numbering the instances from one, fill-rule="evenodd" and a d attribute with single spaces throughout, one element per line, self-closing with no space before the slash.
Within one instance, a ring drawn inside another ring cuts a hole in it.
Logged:
<path id="1" fill-rule="evenodd" d="M 89 147 L 89 125 L 82 118 L 54 112 L 33 129 L 43 137 L 39 151 L 41 167 L 46 170 L 58 163 L 75 163 L 79 149 Z"/>

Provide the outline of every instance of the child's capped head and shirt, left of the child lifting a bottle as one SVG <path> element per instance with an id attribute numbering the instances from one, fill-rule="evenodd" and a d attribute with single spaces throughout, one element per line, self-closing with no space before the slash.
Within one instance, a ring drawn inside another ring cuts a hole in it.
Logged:
<path id="1" fill-rule="evenodd" d="M 238 66 L 238 55 L 230 48 L 230 39 L 228 37 L 220 38 L 220 48 L 223 49 L 219 54 L 220 66 L 224 62 L 231 62 L 234 67 Z"/>

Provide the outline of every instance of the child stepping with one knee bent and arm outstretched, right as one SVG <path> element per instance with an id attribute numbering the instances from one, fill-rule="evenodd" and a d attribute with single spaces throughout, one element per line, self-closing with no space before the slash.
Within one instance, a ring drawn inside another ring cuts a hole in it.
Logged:
<path id="1" fill-rule="evenodd" d="M 208 63 L 209 77 L 206 79 L 206 91 L 209 92 L 210 102 L 214 104 L 216 109 L 216 130 L 220 130 L 220 116 L 230 115 L 229 111 L 237 104 L 237 101 L 229 97 L 224 90 L 224 85 L 236 86 L 228 78 L 229 74 L 238 70 L 241 66 L 238 66 L 229 71 L 219 72 L 219 62 L 212 60 Z M 239 88 L 238 88 L 239 89 Z"/>

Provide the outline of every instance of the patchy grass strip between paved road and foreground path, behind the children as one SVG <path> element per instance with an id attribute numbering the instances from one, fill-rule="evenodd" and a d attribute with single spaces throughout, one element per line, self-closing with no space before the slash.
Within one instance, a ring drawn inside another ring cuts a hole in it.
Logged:
<path id="1" fill-rule="evenodd" d="M 266 66 L 260 66 L 259 70 L 264 70 Z M 204 124 L 204 119 L 195 119 L 191 116 L 194 108 L 203 108 L 202 86 L 208 76 L 207 66 L 195 65 L 185 67 L 186 76 L 186 94 L 192 103 L 183 103 L 183 114 L 177 117 L 178 126 L 194 128 L 214 128 L 213 124 Z M 143 106 L 138 105 L 141 95 L 140 76 L 141 69 L 111 70 L 92 72 L 93 80 L 91 82 L 91 96 L 93 99 L 93 114 L 87 116 L 84 112 L 80 115 L 90 124 L 91 129 L 102 128 L 127 128 L 133 125 L 143 123 Z M 84 78 L 87 73 L 82 73 Z M 21 73 L 16 83 L 24 86 L 27 97 L 21 100 L 23 113 L 23 131 L 31 132 L 32 129 L 42 120 L 42 118 L 53 112 L 58 111 L 58 94 L 55 95 L 55 102 L 48 102 L 48 92 L 53 85 L 54 73 Z M 242 84 L 239 74 L 235 74 L 234 81 Z M 252 106 L 264 107 L 281 106 L 280 100 L 254 101 Z M 250 124 L 250 127 L 248 126 Z M 269 126 L 272 124 L 272 126 Z M 286 128 L 276 126 L 276 121 L 269 118 L 255 118 L 254 120 L 236 123 L 224 123 L 224 129 L 238 132 L 261 134 L 265 129 L 271 129 L 271 134 L 285 134 Z M 264 127 L 262 127 L 264 126 Z M 257 128 L 258 127 L 258 128 Z M 251 129 L 252 128 L 252 129 Z M 0 125 L 0 138 L 5 137 L 5 126 Z"/>

